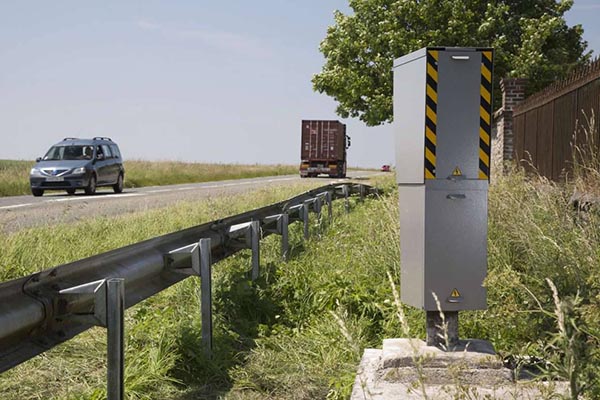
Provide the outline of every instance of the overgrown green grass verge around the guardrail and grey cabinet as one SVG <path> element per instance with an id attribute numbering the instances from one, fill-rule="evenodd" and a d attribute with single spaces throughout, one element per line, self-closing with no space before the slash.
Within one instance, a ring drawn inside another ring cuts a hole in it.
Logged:
<path id="1" fill-rule="evenodd" d="M 600 235 L 597 206 L 570 203 L 575 189 L 512 171 L 489 200 L 488 309 L 461 313 L 460 336 L 490 340 L 502 356 L 544 360 L 545 378 L 570 382 L 571 398 L 600 397 Z M 203 356 L 197 290 L 188 279 L 127 311 L 129 399 L 345 399 L 364 348 L 409 331 L 424 315 L 394 302 L 399 287 L 397 194 L 336 202 L 332 225 L 313 221 L 304 242 L 292 226 L 292 257 L 276 237 L 261 250 L 265 272 L 247 279 L 249 253 L 214 268 L 215 356 Z M 182 203 L 115 220 L 37 228 L 0 239 L 1 280 L 199 224 L 297 194 L 291 187 L 240 198 Z M 218 206 L 218 207 L 217 207 Z M 117 232 L 106 240 L 105 232 Z M 143 227 L 143 229 L 140 229 Z M 94 244 L 104 238 L 100 247 Z M 77 245 L 75 245 L 77 244 Z M 404 315 L 401 322 L 399 316 Z M 93 329 L 0 376 L 3 399 L 101 399 L 105 333 Z M 211 397 L 213 396 L 213 397 Z M 476 397 L 469 397 L 476 398 Z"/>

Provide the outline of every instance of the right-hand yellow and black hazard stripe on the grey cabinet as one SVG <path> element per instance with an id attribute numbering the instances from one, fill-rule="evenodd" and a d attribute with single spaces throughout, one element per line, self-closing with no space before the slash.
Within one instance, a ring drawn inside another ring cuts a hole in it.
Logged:
<path id="1" fill-rule="evenodd" d="M 481 100 L 479 105 L 479 179 L 490 179 L 492 133 L 492 51 L 481 52 Z"/>

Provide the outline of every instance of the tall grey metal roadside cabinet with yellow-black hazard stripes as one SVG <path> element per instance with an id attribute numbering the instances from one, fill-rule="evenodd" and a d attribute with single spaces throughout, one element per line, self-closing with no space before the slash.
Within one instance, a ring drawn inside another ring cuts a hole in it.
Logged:
<path id="1" fill-rule="evenodd" d="M 401 297 L 427 311 L 486 308 L 492 58 L 424 48 L 394 62 Z"/>

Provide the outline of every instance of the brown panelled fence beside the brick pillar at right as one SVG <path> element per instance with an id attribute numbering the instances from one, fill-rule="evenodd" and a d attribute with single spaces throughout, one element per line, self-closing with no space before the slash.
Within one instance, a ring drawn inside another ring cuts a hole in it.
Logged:
<path id="1" fill-rule="evenodd" d="M 573 144 L 598 144 L 597 123 L 591 135 L 589 119 L 600 116 L 600 59 L 529 96 L 513 112 L 515 159 L 528 169 L 560 180 L 573 166 Z M 589 142 L 588 142 L 589 141 Z"/>

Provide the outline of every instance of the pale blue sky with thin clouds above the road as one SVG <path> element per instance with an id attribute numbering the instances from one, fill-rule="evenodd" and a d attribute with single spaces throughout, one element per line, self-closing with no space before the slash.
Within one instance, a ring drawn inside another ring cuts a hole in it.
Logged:
<path id="1" fill-rule="evenodd" d="M 299 162 L 300 120 L 339 119 L 312 91 L 345 0 L 0 2 L 0 159 L 65 136 L 111 136 L 127 158 Z M 600 51 L 600 0 L 576 0 Z M 393 164 L 390 126 L 347 120 L 351 166 Z"/>

